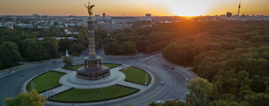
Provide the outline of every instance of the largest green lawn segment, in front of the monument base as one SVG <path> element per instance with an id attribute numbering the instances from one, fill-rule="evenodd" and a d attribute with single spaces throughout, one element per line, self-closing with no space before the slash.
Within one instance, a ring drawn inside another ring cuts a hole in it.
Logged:
<path id="1" fill-rule="evenodd" d="M 132 91 L 132 88 L 121 87 L 119 85 L 96 89 L 71 89 L 55 96 L 55 100 L 73 101 L 71 98 L 74 98 L 74 101 L 104 100 L 103 96 L 106 96 L 105 99 L 112 99 L 130 94 L 130 91 Z M 135 89 L 133 89 L 134 91 Z"/>

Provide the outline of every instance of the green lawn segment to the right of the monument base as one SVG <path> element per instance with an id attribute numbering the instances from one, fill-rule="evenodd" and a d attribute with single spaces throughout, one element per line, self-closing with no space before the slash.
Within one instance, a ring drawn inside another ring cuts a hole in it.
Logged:
<path id="1" fill-rule="evenodd" d="M 127 69 L 123 69 L 120 70 L 120 72 L 123 72 L 125 74 L 125 79 L 127 81 L 133 81 L 133 82 L 137 82 L 138 79 L 138 83 L 140 84 L 144 84 L 145 83 L 145 79 L 146 79 L 146 72 L 144 72 L 141 69 L 138 68 L 127 68 Z M 148 83 L 151 81 L 151 76 L 150 74 L 148 75 Z"/>

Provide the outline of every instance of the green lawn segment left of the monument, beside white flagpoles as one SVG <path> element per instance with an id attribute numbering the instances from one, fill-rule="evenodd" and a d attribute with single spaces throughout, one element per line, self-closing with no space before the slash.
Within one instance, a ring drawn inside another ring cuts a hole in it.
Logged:
<path id="1" fill-rule="evenodd" d="M 41 92 L 46 90 L 46 86 L 48 89 L 49 87 L 52 89 L 52 87 L 60 85 L 59 79 L 63 75 L 65 75 L 65 73 L 51 71 L 34 78 L 32 81 L 35 83 L 36 90 Z M 27 84 L 26 88 L 27 90 L 32 90 L 31 82 Z"/>

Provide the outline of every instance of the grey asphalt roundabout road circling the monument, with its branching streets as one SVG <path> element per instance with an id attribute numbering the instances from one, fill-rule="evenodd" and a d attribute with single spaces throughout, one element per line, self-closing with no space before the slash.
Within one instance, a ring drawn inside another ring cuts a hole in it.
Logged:
<path id="1" fill-rule="evenodd" d="M 175 66 L 175 69 L 172 70 L 170 67 L 165 67 L 165 59 L 163 59 L 162 54 L 159 52 L 152 53 L 150 55 L 146 54 L 137 54 L 124 57 L 106 57 L 104 56 L 103 49 L 96 50 L 96 54 L 102 57 L 102 63 L 122 63 L 122 64 L 133 64 L 135 67 L 141 69 L 146 69 L 150 75 L 154 77 L 152 81 L 152 87 L 150 87 L 146 92 L 143 92 L 137 96 L 132 96 L 132 98 L 100 104 L 100 106 L 112 105 L 148 105 L 152 101 L 165 101 L 165 100 L 174 100 L 181 99 L 187 93 L 188 89 L 186 88 L 185 80 L 188 79 L 188 74 L 182 72 L 182 69 Z M 74 64 L 83 64 L 83 57 L 88 55 L 88 50 L 83 52 L 79 58 L 75 58 L 73 61 Z M 33 77 L 41 72 L 47 71 L 48 64 L 51 64 L 52 69 L 60 68 L 63 66 L 63 63 L 59 60 L 56 63 L 44 62 L 36 63 L 31 66 L 23 66 L 21 68 L 15 69 L 15 73 L 10 74 L 10 72 L 0 73 L 0 105 L 4 105 L 4 99 L 7 97 L 16 97 L 19 93 L 22 92 L 22 83 L 27 81 L 28 78 Z M 51 68 L 50 66 L 50 68 Z M 172 66 L 173 67 L 173 66 Z M 24 76 L 20 76 L 24 73 Z M 163 82 L 163 85 L 160 83 Z M 182 96 L 183 95 L 183 96 Z M 46 105 L 47 106 L 47 105 Z"/>

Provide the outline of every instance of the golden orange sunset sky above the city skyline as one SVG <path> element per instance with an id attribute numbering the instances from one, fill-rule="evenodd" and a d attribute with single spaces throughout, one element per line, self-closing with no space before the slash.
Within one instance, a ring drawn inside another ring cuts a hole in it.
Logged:
<path id="1" fill-rule="evenodd" d="M 0 15 L 88 16 L 89 0 L 1 0 Z M 237 15 L 240 0 L 91 0 L 93 15 Z M 269 15 L 269 0 L 241 0 L 239 15 Z"/>

